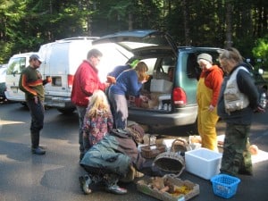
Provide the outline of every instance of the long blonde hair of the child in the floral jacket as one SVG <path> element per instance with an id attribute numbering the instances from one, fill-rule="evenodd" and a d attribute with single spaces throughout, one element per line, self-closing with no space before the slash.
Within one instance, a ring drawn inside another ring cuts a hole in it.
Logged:
<path id="1" fill-rule="evenodd" d="M 95 90 L 93 95 L 89 97 L 88 113 L 86 115 L 88 118 L 96 117 L 100 111 L 107 117 L 110 113 L 110 105 L 105 92 L 102 90 Z"/>

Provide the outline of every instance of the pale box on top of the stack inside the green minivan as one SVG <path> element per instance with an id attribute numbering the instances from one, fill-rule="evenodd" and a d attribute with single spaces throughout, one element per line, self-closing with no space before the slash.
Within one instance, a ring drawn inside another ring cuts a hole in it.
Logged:
<path id="1" fill-rule="evenodd" d="M 168 80 L 151 80 L 150 91 L 151 92 L 161 92 L 161 93 L 171 93 L 172 92 L 172 82 Z"/>

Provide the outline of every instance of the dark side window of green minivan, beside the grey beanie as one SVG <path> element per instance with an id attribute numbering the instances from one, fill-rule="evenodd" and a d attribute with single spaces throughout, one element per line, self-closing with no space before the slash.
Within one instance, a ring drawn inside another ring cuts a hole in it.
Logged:
<path id="1" fill-rule="evenodd" d="M 197 55 L 196 54 L 188 54 L 187 60 L 187 75 L 190 79 L 199 79 L 201 73 L 201 69 L 197 63 Z"/>

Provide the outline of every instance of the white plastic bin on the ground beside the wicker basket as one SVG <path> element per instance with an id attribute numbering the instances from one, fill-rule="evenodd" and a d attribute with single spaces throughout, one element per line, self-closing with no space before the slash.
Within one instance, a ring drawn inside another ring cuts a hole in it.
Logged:
<path id="1" fill-rule="evenodd" d="M 205 180 L 220 173 L 222 154 L 207 148 L 198 148 L 185 153 L 186 171 Z"/>

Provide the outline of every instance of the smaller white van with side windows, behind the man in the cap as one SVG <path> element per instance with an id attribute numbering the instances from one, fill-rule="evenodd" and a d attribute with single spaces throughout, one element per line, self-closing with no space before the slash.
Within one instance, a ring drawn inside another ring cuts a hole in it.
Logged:
<path id="1" fill-rule="evenodd" d="M 24 92 L 19 88 L 19 80 L 21 77 L 21 71 L 29 66 L 29 56 L 36 54 L 34 52 L 14 54 L 7 64 L 5 85 L 6 91 L 4 95 L 6 99 L 14 102 L 21 102 L 25 104 Z"/>

